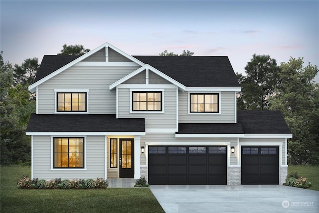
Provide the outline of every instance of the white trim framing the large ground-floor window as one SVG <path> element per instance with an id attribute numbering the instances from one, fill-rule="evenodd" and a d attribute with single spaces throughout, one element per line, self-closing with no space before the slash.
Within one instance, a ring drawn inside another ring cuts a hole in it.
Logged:
<path id="1" fill-rule="evenodd" d="M 83 138 L 84 140 L 84 155 L 83 155 L 83 158 L 84 158 L 84 168 L 70 168 L 70 167 L 67 167 L 65 169 L 63 168 L 54 168 L 54 138 Z M 87 167 L 86 167 L 86 136 L 83 136 L 83 135 L 70 135 L 70 136 L 51 136 L 51 169 L 50 171 L 87 171 Z"/>

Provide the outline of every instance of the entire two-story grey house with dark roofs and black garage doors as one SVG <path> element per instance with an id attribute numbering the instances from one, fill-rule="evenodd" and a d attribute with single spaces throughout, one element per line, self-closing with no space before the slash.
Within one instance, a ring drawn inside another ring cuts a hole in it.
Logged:
<path id="1" fill-rule="evenodd" d="M 45 55 L 29 91 L 32 178 L 285 182 L 292 133 L 280 112 L 237 111 L 226 56 L 131 56 L 105 43 Z"/>

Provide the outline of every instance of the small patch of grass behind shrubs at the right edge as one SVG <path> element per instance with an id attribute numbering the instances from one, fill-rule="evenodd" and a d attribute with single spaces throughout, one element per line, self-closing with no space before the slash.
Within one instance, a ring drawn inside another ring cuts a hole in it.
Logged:
<path id="1" fill-rule="evenodd" d="M 312 183 L 312 187 L 308 189 L 319 191 L 319 166 L 289 165 L 288 175 L 292 172 L 298 172 L 299 177 L 306 177 Z"/>

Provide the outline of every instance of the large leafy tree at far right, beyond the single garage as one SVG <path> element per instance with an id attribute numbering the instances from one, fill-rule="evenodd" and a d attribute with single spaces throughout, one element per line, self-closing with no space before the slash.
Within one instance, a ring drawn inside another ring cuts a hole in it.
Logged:
<path id="1" fill-rule="evenodd" d="M 270 109 L 280 110 L 293 133 L 288 140 L 290 164 L 319 163 L 319 84 L 313 79 L 318 67 L 304 67 L 303 58 L 281 63 L 278 92 L 270 99 Z"/>

